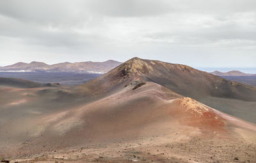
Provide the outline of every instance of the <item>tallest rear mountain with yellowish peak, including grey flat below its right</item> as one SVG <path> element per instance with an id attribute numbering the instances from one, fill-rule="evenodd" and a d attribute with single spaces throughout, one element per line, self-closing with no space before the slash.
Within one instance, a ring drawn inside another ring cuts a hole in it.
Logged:
<path id="1" fill-rule="evenodd" d="M 225 80 L 181 64 L 135 57 L 77 88 L 88 94 L 104 94 L 146 81 L 158 83 L 225 113 L 256 122 L 256 87 Z"/>

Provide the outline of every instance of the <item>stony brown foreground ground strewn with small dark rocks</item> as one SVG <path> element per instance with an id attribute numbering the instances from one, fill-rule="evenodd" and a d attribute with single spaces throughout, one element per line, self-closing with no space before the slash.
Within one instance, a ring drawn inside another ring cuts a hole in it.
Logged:
<path id="1" fill-rule="evenodd" d="M 255 143 L 221 135 L 200 135 L 188 137 L 173 132 L 170 137 L 156 135 L 132 142 L 54 150 L 10 162 L 256 162 Z"/>

